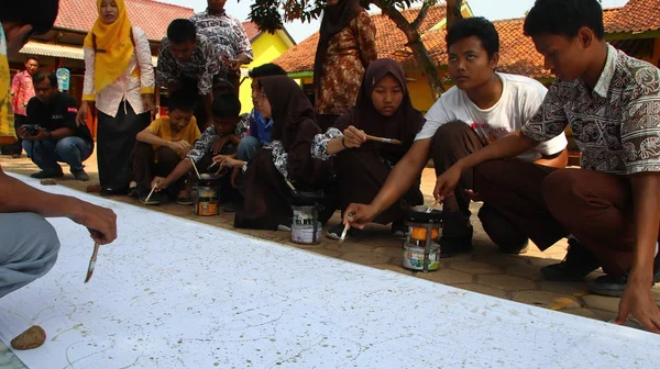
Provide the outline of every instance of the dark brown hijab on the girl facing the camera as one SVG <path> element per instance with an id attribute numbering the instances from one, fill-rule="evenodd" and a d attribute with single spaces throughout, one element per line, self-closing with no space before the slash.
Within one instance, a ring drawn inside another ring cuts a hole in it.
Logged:
<path id="1" fill-rule="evenodd" d="M 388 74 L 399 82 L 404 98 L 394 114 L 385 116 L 374 108 L 371 94 L 381 78 Z M 413 145 L 415 136 L 424 122 L 424 115 L 413 107 L 410 101 L 410 93 L 406 87 L 406 72 L 402 65 L 393 59 L 376 59 L 369 65 L 364 72 L 355 107 L 341 115 L 334 123 L 334 127 L 343 131 L 349 125 L 353 125 L 372 136 L 399 139 L 403 145 L 367 141 L 361 148 L 378 149 L 400 158 Z"/>

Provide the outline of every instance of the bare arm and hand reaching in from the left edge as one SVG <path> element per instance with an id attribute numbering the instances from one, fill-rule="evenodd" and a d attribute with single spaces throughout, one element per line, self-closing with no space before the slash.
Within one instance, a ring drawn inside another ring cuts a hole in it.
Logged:
<path id="1" fill-rule="evenodd" d="M 0 213 L 32 212 L 45 217 L 68 217 L 102 237 L 109 244 L 117 238 L 117 215 L 110 209 L 92 205 L 73 197 L 40 191 L 10 176 L 0 168 Z"/>

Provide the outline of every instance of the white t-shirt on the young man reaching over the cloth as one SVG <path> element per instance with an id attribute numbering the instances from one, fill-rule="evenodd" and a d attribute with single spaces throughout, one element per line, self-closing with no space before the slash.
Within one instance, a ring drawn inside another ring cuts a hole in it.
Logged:
<path id="1" fill-rule="evenodd" d="M 471 125 L 485 141 L 497 139 L 518 131 L 530 120 L 546 98 L 548 91 L 535 79 L 496 74 L 502 79 L 502 97 L 488 109 L 479 109 L 465 91 L 452 87 L 442 93 L 426 115 L 426 123 L 415 139 L 431 138 L 444 123 L 462 121 Z M 561 135 L 539 144 L 536 148 L 518 156 L 525 161 L 535 161 L 542 155 L 553 155 L 566 147 L 566 136 Z"/>

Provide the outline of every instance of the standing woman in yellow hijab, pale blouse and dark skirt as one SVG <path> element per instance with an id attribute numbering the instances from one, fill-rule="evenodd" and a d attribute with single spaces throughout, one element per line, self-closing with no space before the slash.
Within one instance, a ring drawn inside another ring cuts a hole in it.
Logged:
<path id="1" fill-rule="evenodd" d="M 132 179 L 135 135 L 151 121 L 154 68 L 146 34 L 132 26 L 123 0 L 97 0 L 99 18 L 85 38 L 85 85 L 78 124 L 98 111 L 101 194 L 122 194 Z"/>

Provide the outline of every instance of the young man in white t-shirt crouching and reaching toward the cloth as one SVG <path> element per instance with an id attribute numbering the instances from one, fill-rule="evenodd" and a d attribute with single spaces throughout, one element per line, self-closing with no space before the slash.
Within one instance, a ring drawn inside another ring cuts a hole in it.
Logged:
<path id="1" fill-rule="evenodd" d="M 534 116 L 547 89 L 538 81 L 495 72 L 499 37 L 483 18 L 461 20 L 447 34 L 449 75 L 455 82 L 431 107 L 427 122 L 406 156 L 395 166 L 371 204 L 351 204 L 351 225 L 362 227 L 387 209 L 418 178 L 429 156 L 440 176 L 455 161 L 502 136 L 520 130 Z M 518 159 L 563 168 L 568 161 L 566 138 L 561 134 L 518 156 Z M 465 171 L 454 195 L 443 202 L 444 228 L 440 239 L 444 257 L 472 250 L 470 201 L 479 201 L 479 183 Z M 494 208 L 484 204 L 480 220 L 491 239 L 505 253 L 525 253 L 525 230 Z"/>

